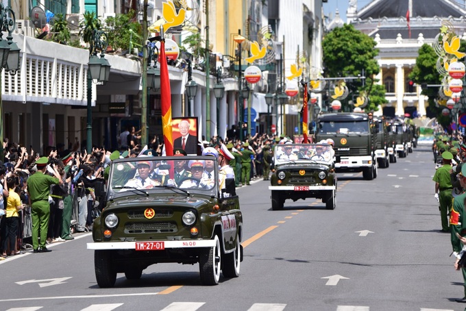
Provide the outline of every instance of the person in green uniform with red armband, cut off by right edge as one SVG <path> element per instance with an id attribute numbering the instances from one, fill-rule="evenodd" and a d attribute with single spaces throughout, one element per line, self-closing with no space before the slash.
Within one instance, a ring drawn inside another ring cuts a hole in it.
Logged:
<path id="1" fill-rule="evenodd" d="M 461 167 L 461 173 L 459 174 L 459 182 L 463 188 L 461 195 L 458 195 L 453 200 L 453 206 L 450 214 L 450 227 L 452 229 L 452 236 L 450 240 L 452 241 L 453 255 L 456 259 L 454 267 L 456 270 L 461 269 L 463 273 L 463 282 L 464 282 L 464 297 L 461 299 L 456 299 L 457 302 L 466 303 L 466 268 L 458 266 L 458 261 L 460 260 L 460 252 L 463 248 L 463 243 L 460 238 L 457 236 L 466 236 L 466 210 L 465 210 L 465 199 L 466 199 L 466 165 Z"/>

